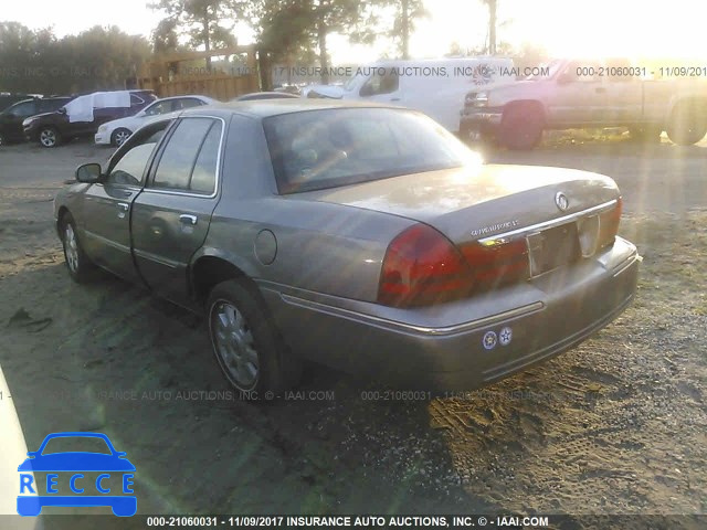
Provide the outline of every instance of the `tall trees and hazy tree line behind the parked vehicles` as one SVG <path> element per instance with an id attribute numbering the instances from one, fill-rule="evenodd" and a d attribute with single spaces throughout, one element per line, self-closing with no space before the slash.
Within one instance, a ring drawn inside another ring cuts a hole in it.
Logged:
<path id="1" fill-rule="evenodd" d="M 469 1 L 487 6 L 493 30 L 485 51 L 495 50 L 497 0 Z M 393 55 L 407 59 L 415 24 L 429 15 L 423 0 L 154 0 L 148 6 L 166 14 L 149 39 L 117 26 L 94 26 L 59 39 L 51 29 L 0 22 L 0 91 L 123 88 L 152 54 L 236 44 L 238 23 L 253 29 L 267 64 L 317 64 L 326 83 L 331 34 L 362 44 L 386 39 L 393 44 Z"/>

